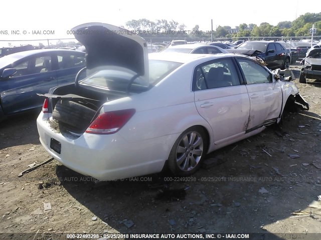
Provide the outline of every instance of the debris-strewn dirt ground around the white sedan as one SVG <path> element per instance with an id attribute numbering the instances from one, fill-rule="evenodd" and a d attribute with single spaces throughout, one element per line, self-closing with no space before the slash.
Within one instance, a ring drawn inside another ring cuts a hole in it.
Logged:
<path id="1" fill-rule="evenodd" d="M 159 173 L 94 184 L 56 160 L 18 177 L 49 155 L 39 142 L 37 114 L 2 122 L 0 238 L 24 239 L 27 235 L 12 233 L 30 233 L 37 239 L 47 232 L 257 232 L 321 239 L 321 85 L 294 82 L 309 111 L 286 114 L 282 135 L 271 127 L 216 151 L 221 164 L 184 181 Z M 44 203 L 51 209 L 44 210 Z"/>

